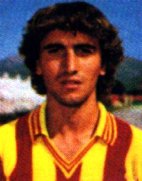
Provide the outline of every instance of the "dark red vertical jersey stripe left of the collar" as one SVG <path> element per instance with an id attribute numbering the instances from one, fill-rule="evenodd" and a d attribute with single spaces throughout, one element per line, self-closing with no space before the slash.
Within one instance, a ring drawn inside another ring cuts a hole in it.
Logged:
<path id="1" fill-rule="evenodd" d="M 20 118 L 16 125 L 17 163 L 10 177 L 13 181 L 32 181 L 32 142 L 29 115 Z"/>

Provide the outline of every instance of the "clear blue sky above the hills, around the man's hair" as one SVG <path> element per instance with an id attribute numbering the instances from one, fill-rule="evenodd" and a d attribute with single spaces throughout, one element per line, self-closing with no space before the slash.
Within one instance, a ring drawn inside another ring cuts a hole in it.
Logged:
<path id="1" fill-rule="evenodd" d="M 39 8 L 65 0 L 0 0 L 0 60 L 18 54 L 27 20 Z M 73 2 L 66 0 L 65 2 Z M 142 1 L 86 0 L 97 6 L 119 31 L 125 56 L 142 61 Z"/>

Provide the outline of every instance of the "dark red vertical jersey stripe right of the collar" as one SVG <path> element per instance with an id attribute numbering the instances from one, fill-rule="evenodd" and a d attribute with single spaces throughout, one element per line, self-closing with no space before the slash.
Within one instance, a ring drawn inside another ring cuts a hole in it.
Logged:
<path id="1" fill-rule="evenodd" d="M 105 168 L 104 181 L 126 180 L 125 175 L 125 158 L 132 140 L 130 126 L 122 120 L 116 118 L 118 137 L 113 146 L 108 146 Z"/>

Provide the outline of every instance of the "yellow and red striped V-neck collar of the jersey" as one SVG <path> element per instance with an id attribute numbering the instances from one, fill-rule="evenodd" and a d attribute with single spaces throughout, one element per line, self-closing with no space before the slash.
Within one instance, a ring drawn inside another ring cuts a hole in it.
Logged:
<path id="1" fill-rule="evenodd" d="M 84 145 L 74 156 L 71 161 L 68 161 L 65 156 L 59 151 L 54 145 L 52 140 L 49 138 L 48 130 L 46 128 L 46 117 L 45 108 L 46 103 L 38 107 L 30 116 L 32 138 L 36 141 L 39 137 L 42 137 L 47 149 L 52 154 L 55 162 L 71 172 L 75 165 L 78 165 L 88 150 L 101 139 L 106 144 L 113 145 L 117 136 L 117 128 L 114 116 L 106 111 L 106 108 L 102 103 L 98 103 L 100 110 L 100 118 L 94 135 L 90 141 Z M 77 164 L 78 163 L 78 164 Z"/>

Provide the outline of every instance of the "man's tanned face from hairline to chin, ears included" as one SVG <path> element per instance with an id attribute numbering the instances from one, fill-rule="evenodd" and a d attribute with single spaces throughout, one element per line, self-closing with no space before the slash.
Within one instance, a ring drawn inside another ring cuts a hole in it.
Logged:
<path id="1" fill-rule="evenodd" d="M 98 77 L 105 74 L 98 41 L 81 32 L 50 32 L 40 44 L 37 74 L 44 78 L 48 98 L 81 105 L 96 94 Z"/>

